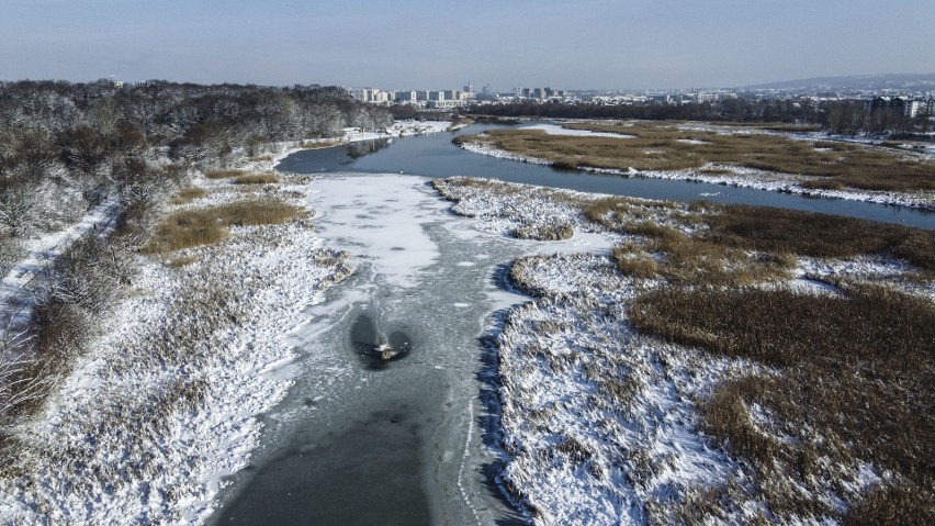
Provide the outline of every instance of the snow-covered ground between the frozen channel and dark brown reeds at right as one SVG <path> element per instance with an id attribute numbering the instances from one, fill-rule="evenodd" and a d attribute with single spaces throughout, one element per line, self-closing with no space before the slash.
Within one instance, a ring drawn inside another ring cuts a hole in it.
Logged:
<path id="1" fill-rule="evenodd" d="M 737 470 L 692 400 L 743 365 L 641 336 L 606 256 L 520 260 L 543 293 L 498 335 L 506 484 L 540 524 L 644 524 L 646 506 Z"/>

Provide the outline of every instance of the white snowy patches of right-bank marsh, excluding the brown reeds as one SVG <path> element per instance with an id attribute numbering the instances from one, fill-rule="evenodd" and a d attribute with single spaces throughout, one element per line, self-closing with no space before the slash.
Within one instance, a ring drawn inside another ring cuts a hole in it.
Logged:
<path id="1" fill-rule="evenodd" d="M 595 222 L 586 211 L 613 198 L 463 178 L 435 186 L 455 202 L 454 212 L 507 236 L 564 224 L 574 236 L 607 236 L 637 253 L 645 238 L 626 228 L 621 234 L 615 223 L 632 225 L 639 217 L 686 235 L 703 231 L 691 219 L 703 211 L 687 205 L 621 200 L 623 212 L 611 209 Z M 747 256 L 757 259 L 740 257 Z M 615 250 L 615 257 L 630 256 Z M 653 257 L 664 266 L 673 256 Z M 785 373 L 637 329 L 634 300 L 665 290 L 668 280 L 664 272 L 628 276 L 618 267 L 623 264 L 607 254 L 533 256 L 511 267 L 511 286 L 534 299 L 511 310 L 494 337 L 506 457 L 498 480 L 537 524 L 834 523 L 881 480 L 899 479 L 857 456 L 822 457 L 803 481 L 779 460 L 764 472 L 736 455 L 709 430 L 706 414 L 717 409 L 711 401 L 734 382 Z M 829 283 L 841 280 L 889 283 L 935 303 L 933 281 L 915 279 L 915 272 L 885 256 L 798 257 L 751 276 L 762 276 L 755 287 L 816 296 L 840 293 Z M 754 403 L 743 413 L 768 440 L 798 440 L 786 432 L 773 435 L 781 425 L 770 410 Z M 810 433 L 820 440 L 827 432 Z M 811 504 L 780 507 L 797 499 Z"/>

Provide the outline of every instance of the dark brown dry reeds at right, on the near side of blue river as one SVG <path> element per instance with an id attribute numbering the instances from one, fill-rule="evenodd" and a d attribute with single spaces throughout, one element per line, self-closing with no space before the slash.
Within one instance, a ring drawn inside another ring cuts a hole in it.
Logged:
<path id="1" fill-rule="evenodd" d="M 786 371 L 726 382 L 701 406 L 705 429 L 750 460 L 761 480 L 787 481 L 761 483 L 748 497 L 763 499 L 782 521 L 840 516 L 826 496 L 832 492 L 848 495 L 854 505 L 843 517 L 847 522 L 871 512 L 910 522 L 935 518 L 933 470 L 925 460 L 935 458 L 935 418 L 916 416 L 928 415 L 925 407 L 935 406 L 935 393 L 924 380 L 935 372 L 931 298 L 867 286 L 852 287 L 847 298 L 736 288 L 780 278 L 795 256 L 885 254 L 915 265 L 921 272 L 910 271 L 913 279 L 931 280 L 935 233 L 733 205 L 711 206 L 691 221 L 691 226 L 703 227 L 689 237 L 675 228 L 628 221 L 622 209 L 608 200 L 589 210 L 605 226 L 647 237 L 644 245 L 652 256 L 634 244 L 615 249 L 621 271 L 673 283 L 633 303 L 638 328 Z M 737 266 L 736 258 L 750 250 L 757 256 Z M 755 271 L 750 262 L 766 268 Z M 755 422 L 752 407 L 767 411 L 771 418 Z M 789 437 L 798 445 L 790 446 Z M 895 474 L 879 490 L 859 496 L 844 482 L 848 478 L 841 468 L 861 461 Z M 707 499 L 724 496 L 714 492 Z M 694 499 L 692 505 L 700 505 L 698 496 Z M 691 522 L 710 519 L 718 510 L 708 502 L 692 512 L 698 515 Z"/>

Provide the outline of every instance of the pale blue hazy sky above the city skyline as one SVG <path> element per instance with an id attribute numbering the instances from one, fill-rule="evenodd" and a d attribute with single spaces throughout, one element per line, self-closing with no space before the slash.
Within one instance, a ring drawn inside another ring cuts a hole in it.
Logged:
<path id="1" fill-rule="evenodd" d="M 0 0 L 0 79 L 507 90 L 935 72 L 933 0 Z"/>

